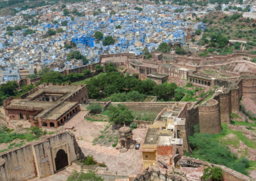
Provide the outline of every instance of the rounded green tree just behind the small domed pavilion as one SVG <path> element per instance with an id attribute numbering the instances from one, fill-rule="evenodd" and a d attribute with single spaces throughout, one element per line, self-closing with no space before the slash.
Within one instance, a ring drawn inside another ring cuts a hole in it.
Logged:
<path id="1" fill-rule="evenodd" d="M 118 104 L 117 106 L 109 106 L 109 121 L 115 124 L 131 124 L 134 117 L 127 106 Z"/>

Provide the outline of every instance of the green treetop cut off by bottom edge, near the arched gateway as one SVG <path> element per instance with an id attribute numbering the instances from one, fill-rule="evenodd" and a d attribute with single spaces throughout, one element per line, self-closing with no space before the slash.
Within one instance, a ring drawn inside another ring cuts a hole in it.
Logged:
<path id="1" fill-rule="evenodd" d="M 70 175 L 67 181 L 103 181 L 104 179 L 97 175 L 92 170 L 88 170 L 87 173 L 83 173 L 82 171 L 77 172 L 74 171 L 72 175 Z"/>

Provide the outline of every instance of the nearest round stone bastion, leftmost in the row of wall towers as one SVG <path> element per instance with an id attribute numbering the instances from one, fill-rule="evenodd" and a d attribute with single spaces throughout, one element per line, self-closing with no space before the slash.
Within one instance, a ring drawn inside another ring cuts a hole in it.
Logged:
<path id="1" fill-rule="evenodd" d="M 216 134 L 221 132 L 220 107 L 218 101 L 209 99 L 199 106 L 200 133 Z"/>

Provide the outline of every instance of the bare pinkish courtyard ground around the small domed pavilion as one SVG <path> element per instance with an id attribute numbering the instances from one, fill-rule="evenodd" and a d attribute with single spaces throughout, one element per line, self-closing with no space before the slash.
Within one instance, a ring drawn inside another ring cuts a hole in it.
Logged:
<path id="1" fill-rule="evenodd" d="M 65 125 L 65 129 L 75 134 L 77 143 L 84 153 L 84 156 L 93 156 L 98 163 L 105 163 L 107 166 L 106 170 L 101 168 L 92 168 L 105 180 L 115 180 L 116 178 L 128 178 L 129 175 L 136 175 L 143 171 L 142 154 L 141 150 L 135 150 L 131 148 L 124 153 L 120 153 L 110 143 L 109 145 L 99 145 L 93 142 L 93 140 L 99 138 L 106 133 L 116 133 L 116 130 L 112 130 L 112 126 L 106 121 L 90 121 L 84 119 L 84 116 L 88 112 L 81 110 L 70 119 Z M 147 134 L 147 128 L 138 128 L 132 130 L 133 140 L 138 143 L 143 143 Z M 141 149 L 141 148 L 140 148 Z M 135 164 L 134 164 L 135 163 Z M 80 171 L 83 163 L 75 161 L 71 166 L 58 171 L 56 174 L 46 178 L 33 178 L 33 181 L 37 180 L 54 180 L 62 181 L 67 180 L 68 176 L 74 171 Z M 88 168 L 83 166 L 83 171 L 86 172 Z"/>

